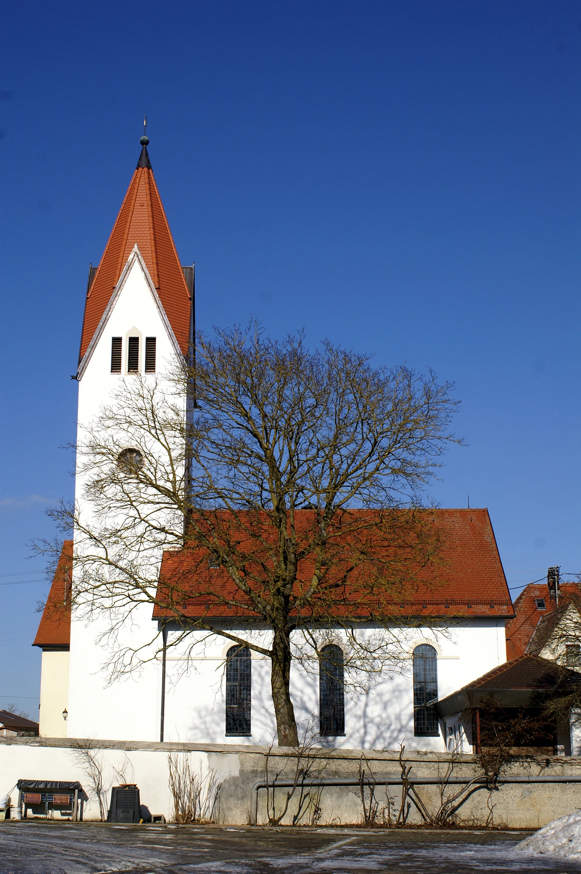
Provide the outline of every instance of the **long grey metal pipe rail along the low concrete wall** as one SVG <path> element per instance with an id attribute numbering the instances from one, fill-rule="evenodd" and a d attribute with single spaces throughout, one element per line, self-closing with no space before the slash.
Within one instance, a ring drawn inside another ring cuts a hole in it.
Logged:
<path id="1" fill-rule="evenodd" d="M 369 780 L 364 778 L 360 780 L 358 777 L 329 777 L 327 780 L 301 780 L 300 783 L 294 780 L 275 780 L 273 783 L 266 783 L 264 780 L 258 780 L 252 787 L 252 798 L 250 808 L 250 824 L 256 825 L 258 819 L 259 808 L 259 789 L 292 789 L 310 786 L 402 786 L 404 780 L 401 777 L 386 777 L 384 780 Z M 475 788 L 484 789 L 488 786 L 486 777 L 450 777 L 449 780 L 444 780 L 441 777 L 414 777 L 412 780 L 406 780 L 410 786 L 467 786 L 468 783 L 474 783 Z M 581 783 L 581 774 L 563 777 L 555 776 L 529 776 L 529 777 L 500 777 L 496 780 L 497 785 L 501 783 Z"/>

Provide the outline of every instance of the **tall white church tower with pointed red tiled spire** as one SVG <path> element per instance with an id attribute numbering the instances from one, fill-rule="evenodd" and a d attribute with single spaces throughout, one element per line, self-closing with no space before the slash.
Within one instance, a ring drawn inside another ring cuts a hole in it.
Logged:
<path id="1" fill-rule="evenodd" d="M 80 340 L 78 461 L 75 502 L 91 524 L 83 482 L 82 434 L 114 404 L 122 381 L 139 376 L 164 390 L 164 374 L 188 356 L 194 325 L 194 267 L 182 267 L 148 155 L 149 139 L 123 198 L 98 267 L 90 267 Z M 168 387 L 169 390 L 169 387 Z M 75 531 L 74 555 L 83 538 Z M 161 562 L 161 553 L 159 555 Z M 73 558 L 73 586 L 75 562 Z M 154 659 L 139 677 L 107 685 L 100 635 L 107 617 L 71 617 L 67 704 L 69 737 L 154 740 L 158 733 L 160 670 Z M 155 631 L 151 607 L 132 615 L 127 634 L 138 645 Z"/>

